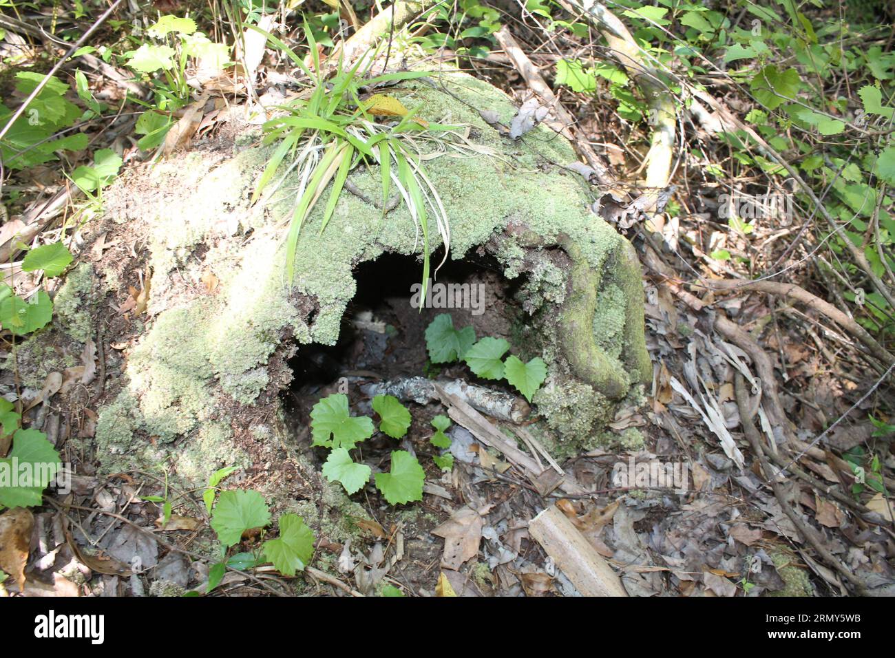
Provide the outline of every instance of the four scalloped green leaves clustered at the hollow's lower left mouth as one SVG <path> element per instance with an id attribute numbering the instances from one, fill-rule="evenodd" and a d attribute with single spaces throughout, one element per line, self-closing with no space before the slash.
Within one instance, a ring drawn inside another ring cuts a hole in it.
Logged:
<path id="1" fill-rule="evenodd" d="M 401 439 L 410 428 L 411 416 L 407 408 L 394 396 L 376 396 L 373 410 L 379 415 L 379 432 L 393 439 Z M 369 416 L 353 416 L 344 393 L 324 397 L 311 409 L 311 437 L 313 446 L 330 449 L 323 465 L 323 475 L 330 482 L 342 483 L 349 494 L 360 491 L 370 482 L 371 468 L 358 464 L 348 452 L 374 432 Z M 388 473 L 376 474 L 376 488 L 390 505 L 422 500 L 425 472 L 416 457 L 406 450 L 393 450 Z"/>

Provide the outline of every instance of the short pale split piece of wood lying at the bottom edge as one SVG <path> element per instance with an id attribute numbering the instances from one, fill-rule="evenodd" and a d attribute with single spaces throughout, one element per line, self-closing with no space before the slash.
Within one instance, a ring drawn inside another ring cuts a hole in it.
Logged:
<path id="1" fill-rule="evenodd" d="M 528 534 L 541 544 L 582 596 L 627 596 L 609 563 L 556 505 L 532 519 Z"/>

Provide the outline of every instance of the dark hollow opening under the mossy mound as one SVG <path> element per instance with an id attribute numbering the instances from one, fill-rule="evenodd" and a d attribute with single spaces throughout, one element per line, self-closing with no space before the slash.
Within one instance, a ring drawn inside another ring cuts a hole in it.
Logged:
<path id="1" fill-rule="evenodd" d="M 433 270 L 440 258 L 433 254 Z M 472 326 L 476 338 L 506 338 L 518 351 L 527 315 L 516 294 L 524 276 L 505 278 L 490 255 L 448 260 L 430 281 L 421 311 L 414 305 L 421 295 L 421 270 L 420 261 L 388 252 L 354 269 L 357 291 L 345 310 L 337 344 L 299 346 L 289 361 L 293 380 L 281 400 L 294 436 L 307 434 L 311 407 L 331 393 L 347 392 L 352 414 L 371 413 L 370 396 L 364 392 L 371 384 L 432 376 L 515 394 L 505 381 L 478 379 L 464 363 L 429 363 L 425 330 L 440 313 L 449 313 L 457 329 Z"/>

